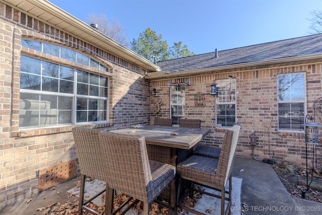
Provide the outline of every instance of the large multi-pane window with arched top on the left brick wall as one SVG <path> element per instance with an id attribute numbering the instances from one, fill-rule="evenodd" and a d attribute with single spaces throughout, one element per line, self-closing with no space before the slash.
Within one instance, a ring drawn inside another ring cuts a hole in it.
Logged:
<path id="1" fill-rule="evenodd" d="M 61 50 L 68 52 L 66 48 L 37 41 L 28 40 L 28 44 L 52 55 L 66 56 L 61 55 Z M 74 51 L 67 55 L 71 53 Z M 86 62 L 85 55 L 81 55 L 82 62 Z M 77 54 L 74 56 L 77 59 Z M 88 60 L 88 63 L 107 70 L 96 60 Z M 21 55 L 19 127 L 106 122 L 108 89 L 107 77 Z"/>

